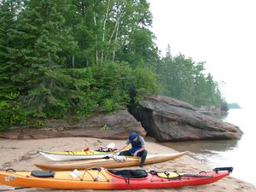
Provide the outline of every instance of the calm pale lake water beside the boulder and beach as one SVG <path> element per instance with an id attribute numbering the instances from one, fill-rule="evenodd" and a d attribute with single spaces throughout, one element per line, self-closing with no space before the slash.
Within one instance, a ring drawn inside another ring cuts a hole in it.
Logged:
<path id="1" fill-rule="evenodd" d="M 244 135 L 238 141 L 201 141 L 168 143 L 179 151 L 189 150 L 191 156 L 212 168 L 233 166 L 233 177 L 256 186 L 256 126 L 255 109 L 230 109 L 223 120 L 238 125 Z"/>

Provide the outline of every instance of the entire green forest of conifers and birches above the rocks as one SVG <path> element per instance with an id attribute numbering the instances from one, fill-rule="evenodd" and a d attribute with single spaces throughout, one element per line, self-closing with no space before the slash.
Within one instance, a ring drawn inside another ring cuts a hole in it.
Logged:
<path id="1" fill-rule="evenodd" d="M 205 62 L 154 43 L 147 0 L 1 0 L 0 131 L 171 96 L 226 106 Z M 167 24 L 166 24 L 167 25 Z"/>

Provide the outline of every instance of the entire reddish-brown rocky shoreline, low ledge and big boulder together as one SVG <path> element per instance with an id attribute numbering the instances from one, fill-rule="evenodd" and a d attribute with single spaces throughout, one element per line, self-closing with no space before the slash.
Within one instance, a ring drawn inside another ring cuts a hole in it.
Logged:
<path id="1" fill-rule="evenodd" d="M 41 128 L 16 127 L 0 132 L 10 139 L 40 139 L 53 137 L 95 137 L 125 139 L 136 131 L 141 136 L 154 137 L 159 142 L 195 141 L 206 139 L 239 139 L 241 129 L 198 112 L 189 103 L 166 96 L 148 96 L 137 107 L 114 113 L 98 114 L 75 124 L 63 119 L 48 119 Z"/>

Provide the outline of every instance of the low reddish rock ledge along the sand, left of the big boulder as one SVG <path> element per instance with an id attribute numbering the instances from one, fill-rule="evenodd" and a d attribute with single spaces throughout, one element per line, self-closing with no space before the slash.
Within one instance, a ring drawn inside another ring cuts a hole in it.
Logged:
<path id="1" fill-rule="evenodd" d="M 75 125 L 49 123 L 41 129 L 15 129 L 0 132 L 0 137 L 10 139 L 38 139 L 50 137 L 96 137 L 105 139 L 127 139 L 131 131 L 145 136 L 146 131 L 127 110 L 101 114 Z"/>

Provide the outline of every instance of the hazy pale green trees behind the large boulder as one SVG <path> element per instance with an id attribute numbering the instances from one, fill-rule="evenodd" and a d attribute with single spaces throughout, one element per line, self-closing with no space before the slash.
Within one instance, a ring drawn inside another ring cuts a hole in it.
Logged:
<path id="1" fill-rule="evenodd" d="M 162 94 L 197 107 L 220 106 L 224 98 L 210 73 L 205 75 L 204 62 L 195 63 L 184 55 L 172 57 L 170 51 L 157 66 L 156 73 L 163 87 Z"/>

